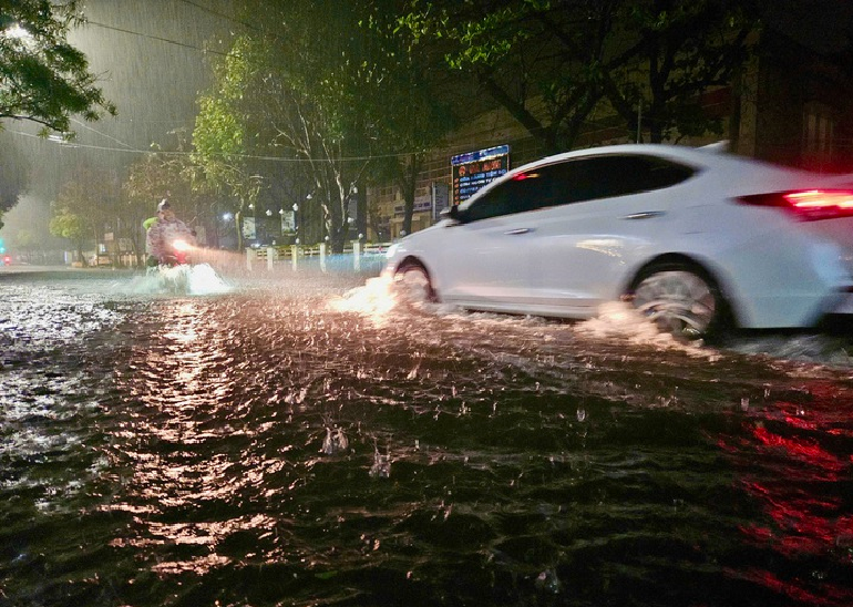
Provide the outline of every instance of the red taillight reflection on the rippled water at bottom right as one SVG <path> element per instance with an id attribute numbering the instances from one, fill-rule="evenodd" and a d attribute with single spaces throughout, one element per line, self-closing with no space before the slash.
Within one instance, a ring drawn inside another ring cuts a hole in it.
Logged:
<path id="1" fill-rule="evenodd" d="M 853 605 L 853 513 L 843 488 L 850 480 L 853 394 L 836 383 L 815 381 L 798 391 L 805 404 L 767 401 L 744 412 L 741 432 L 718 445 L 746 471 L 742 488 L 767 515 L 763 523 L 740 527 L 748 544 L 769 548 L 803 567 L 846 569 L 815 577 L 814 572 L 782 576 L 752 567 L 729 569 L 803 605 Z M 799 400 L 799 399 L 795 399 Z M 847 508 L 847 510 L 845 510 Z M 805 565 L 809 562 L 811 565 Z"/>

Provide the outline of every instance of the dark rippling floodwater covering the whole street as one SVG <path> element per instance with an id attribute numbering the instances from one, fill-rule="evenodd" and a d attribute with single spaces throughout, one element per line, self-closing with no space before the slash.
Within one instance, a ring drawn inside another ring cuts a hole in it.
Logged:
<path id="1" fill-rule="evenodd" d="M 0 606 L 849 606 L 853 339 L 0 274 Z"/>

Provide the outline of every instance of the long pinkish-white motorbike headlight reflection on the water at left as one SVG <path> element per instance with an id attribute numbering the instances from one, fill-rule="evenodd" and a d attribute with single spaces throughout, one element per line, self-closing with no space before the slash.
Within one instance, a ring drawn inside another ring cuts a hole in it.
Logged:
<path id="1" fill-rule="evenodd" d="M 203 299 L 155 306 L 162 308 L 162 328 L 154 327 L 148 342 L 135 349 L 131 372 L 117 380 L 129 397 L 117 455 L 132 473 L 123 483 L 124 500 L 107 510 L 133 514 L 135 524 L 112 545 L 142 554 L 165 551 L 171 556 L 152 565 L 161 575 L 202 574 L 229 560 L 213 552 L 223 537 L 257 528 L 256 516 L 226 513 L 238 510 L 235 501 L 261 482 L 273 462 L 253 465 L 257 459 L 235 450 L 235 438 L 244 442 L 232 423 L 239 408 L 230 374 L 239 344 L 212 318 L 223 308 Z M 184 511 L 196 513 L 194 521 L 168 519 L 168 513 Z"/>

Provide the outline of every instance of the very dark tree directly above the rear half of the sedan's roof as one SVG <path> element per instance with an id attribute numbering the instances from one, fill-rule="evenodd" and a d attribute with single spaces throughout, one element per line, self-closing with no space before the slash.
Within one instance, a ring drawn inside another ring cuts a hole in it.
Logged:
<path id="1" fill-rule="evenodd" d="M 631 44 L 623 71 L 603 73 L 613 107 L 628 125 L 660 143 L 682 135 L 722 133 L 701 95 L 732 83 L 752 51 L 760 1 L 631 0 L 619 8 L 619 32 Z"/>

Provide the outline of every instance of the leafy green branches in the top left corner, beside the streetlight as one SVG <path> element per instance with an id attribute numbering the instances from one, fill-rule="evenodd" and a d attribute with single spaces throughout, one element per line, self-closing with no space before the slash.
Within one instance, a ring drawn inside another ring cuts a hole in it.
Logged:
<path id="1" fill-rule="evenodd" d="M 0 0 L 0 121 L 25 120 L 70 133 L 73 114 L 115 114 L 85 55 L 66 41 L 82 22 L 76 0 Z"/>

